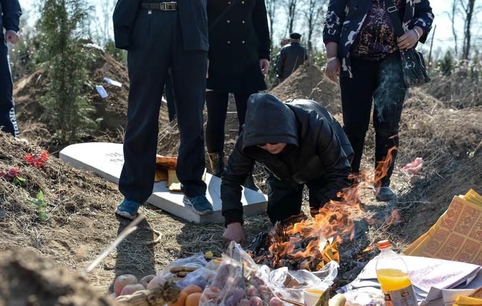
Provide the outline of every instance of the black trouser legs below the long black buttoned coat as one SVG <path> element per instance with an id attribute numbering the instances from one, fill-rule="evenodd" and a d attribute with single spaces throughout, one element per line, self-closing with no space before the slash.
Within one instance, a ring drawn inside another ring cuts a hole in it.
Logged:
<path id="1" fill-rule="evenodd" d="M 238 113 L 239 130 L 246 119 L 248 98 L 251 94 L 234 94 L 236 112 Z M 229 94 L 218 91 L 206 92 L 207 123 L 206 146 L 209 153 L 219 153 L 224 149 L 224 123 L 228 111 Z"/>

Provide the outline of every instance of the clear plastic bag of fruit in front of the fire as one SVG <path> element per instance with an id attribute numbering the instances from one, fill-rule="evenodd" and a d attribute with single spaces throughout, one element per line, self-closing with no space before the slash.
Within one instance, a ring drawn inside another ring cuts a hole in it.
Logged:
<path id="1" fill-rule="evenodd" d="M 282 306 L 269 284 L 270 272 L 266 265 L 257 265 L 238 243 L 231 242 L 199 305 Z"/>

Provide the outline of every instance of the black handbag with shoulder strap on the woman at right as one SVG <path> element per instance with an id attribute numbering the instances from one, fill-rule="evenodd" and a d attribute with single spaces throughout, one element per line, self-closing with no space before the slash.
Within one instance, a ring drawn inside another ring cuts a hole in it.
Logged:
<path id="1" fill-rule="evenodd" d="M 385 7 L 392 19 L 397 37 L 404 35 L 404 27 L 401 25 L 397 6 L 395 6 L 393 0 L 385 0 Z M 416 87 L 430 82 L 423 56 L 415 50 L 415 46 L 407 50 L 400 50 L 400 56 L 401 70 L 404 73 L 404 81 L 407 87 Z"/>

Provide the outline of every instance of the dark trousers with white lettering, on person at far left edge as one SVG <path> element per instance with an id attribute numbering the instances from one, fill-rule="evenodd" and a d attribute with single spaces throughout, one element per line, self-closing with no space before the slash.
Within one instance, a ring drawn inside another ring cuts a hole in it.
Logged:
<path id="1" fill-rule="evenodd" d="M 8 47 L 0 34 L 0 129 L 14 136 L 19 135 L 13 102 L 13 83 L 8 65 Z"/>

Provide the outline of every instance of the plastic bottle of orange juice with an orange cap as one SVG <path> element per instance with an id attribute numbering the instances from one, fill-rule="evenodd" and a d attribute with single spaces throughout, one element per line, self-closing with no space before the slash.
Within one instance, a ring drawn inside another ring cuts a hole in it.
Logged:
<path id="1" fill-rule="evenodd" d="M 391 250 L 390 241 L 378 243 L 377 278 L 385 294 L 386 306 L 417 306 L 417 296 L 401 256 Z"/>

